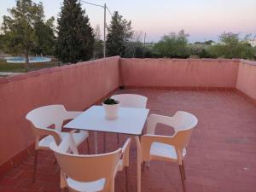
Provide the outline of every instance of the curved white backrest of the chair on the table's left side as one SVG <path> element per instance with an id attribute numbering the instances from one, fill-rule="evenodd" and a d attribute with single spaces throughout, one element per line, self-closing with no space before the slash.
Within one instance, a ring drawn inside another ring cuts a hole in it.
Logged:
<path id="1" fill-rule="evenodd" d="M 26 119 L 30 120 L 35 128 L 44 129 L 49 125 L 55 125 L 55 130 L 61 131 L 66 112 L 63 105 L 48 105 L 33 109 L 26 114 Z"/>

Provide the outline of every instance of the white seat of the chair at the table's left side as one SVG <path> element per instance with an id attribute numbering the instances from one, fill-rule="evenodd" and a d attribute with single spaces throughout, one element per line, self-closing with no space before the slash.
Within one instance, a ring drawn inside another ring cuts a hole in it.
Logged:
<path id="1" fill-rule="evenodd" d="M 68 137 L 68 132 L 61 132 L 61 139 Z M 74 141 L 77 146 L 83 143 L 85 138 L 88 137 L 88 131 L 80 131 L 78 133 L 73 134 Z M 52 136 L 47 136 L 41 139 L 38 143 L 39 148 L 49 148 L 49 144 L 55 142 L 55 138 Z"/>

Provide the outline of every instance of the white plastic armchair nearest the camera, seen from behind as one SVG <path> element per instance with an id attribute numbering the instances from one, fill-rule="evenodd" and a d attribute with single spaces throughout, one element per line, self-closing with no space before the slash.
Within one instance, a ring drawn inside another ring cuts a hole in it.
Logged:
<path id="1" fill-rule="evenodd" d="M 114 191 L 116 173 L 129 166 L 129 149 L 131 138 L 123 148 L 107 154 L 81 155 L 74 144 L 73 134 L 61 142 L 59 146 L 50 144 L 56 160 L 61 167 L 61 189 L 67 187 L 71 191 Z M 73 152 L 73 154 L 67 154 Z M 128 191 L 127 171 L 126 191 Z"/>

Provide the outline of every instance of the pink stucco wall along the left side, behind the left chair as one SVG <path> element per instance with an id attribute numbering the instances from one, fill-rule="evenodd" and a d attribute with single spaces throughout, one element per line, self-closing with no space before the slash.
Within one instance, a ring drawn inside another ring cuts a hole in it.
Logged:
<path id="1" fill-rule="evenodd" d="M 119 87 L 119 57 L 0 79 L 0 165 L 33 142 L 26 113 L 63 104 L 83 110 Z"/>

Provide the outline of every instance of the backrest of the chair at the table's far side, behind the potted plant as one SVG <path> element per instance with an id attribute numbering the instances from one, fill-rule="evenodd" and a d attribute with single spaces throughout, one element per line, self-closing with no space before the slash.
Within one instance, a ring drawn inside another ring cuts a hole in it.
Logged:
<path id="1" fill-rule="evenodd" d="M 119 101 L 120 106 L 124 108 L 146 108 L 148 98 L 136 94 L 119 94 L 111 96 L 114 100 Z"/>

